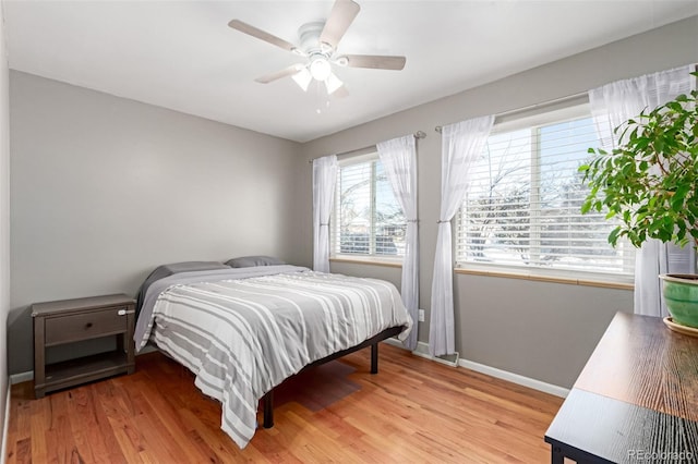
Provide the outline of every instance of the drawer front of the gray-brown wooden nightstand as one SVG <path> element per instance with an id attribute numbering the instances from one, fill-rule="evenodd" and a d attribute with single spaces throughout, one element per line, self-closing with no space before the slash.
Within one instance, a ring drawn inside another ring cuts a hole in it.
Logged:
<path id="1" fill-rule="evenodd" d="M 125 332 L 128 328 L 127 312 L 128 308 L 123 306 L 46 318 L 46 346 Z"/>

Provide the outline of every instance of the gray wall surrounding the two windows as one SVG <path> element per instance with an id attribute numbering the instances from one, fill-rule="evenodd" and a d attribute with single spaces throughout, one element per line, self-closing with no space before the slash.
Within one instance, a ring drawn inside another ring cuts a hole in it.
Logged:
<path id="1" fill-rule="evenodd" d="M 418 130 L 429 134 L 418 142 L 420 301 L 429 312 L 441 188 L 441 137 L 434 126 L 697 61 L 698 17 L 691 17 L 313 141 L 303 146 L 303 154 L 311 159 Z M 299 221 L 305 224 L 298 231 L 299 243 L 311 254 L 310 170 L 299 170 L 298 175 L 299 185 L 304 186 L 301 204 L 306 205 Z M 332 269 L 396 280 L 393 268 L 335 262 Z M 461 358 L 562 387 L 573 384 L 615 312 L 633 310 L 633 294 L 627 290 L 508 278 L 456 274 L 455 294 L 456 346 Z M 426 342 L 428 338 L 425 323 L 419 339 Z"/>

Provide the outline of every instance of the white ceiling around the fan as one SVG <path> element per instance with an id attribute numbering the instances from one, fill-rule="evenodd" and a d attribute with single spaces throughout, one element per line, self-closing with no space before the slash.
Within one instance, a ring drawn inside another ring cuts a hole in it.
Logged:
<path id="1" fill-rule="evenodd" d="M 298 142 L 698 14 L 698 0 L 358 1 L 338 52 L 407 65 L 336 69 L 349 96 L 329 107 L 290 77 L 254 82 L 302 59 L 227 24 L 298 44 L 332 0 L 2 3 L 11 69 Z"/>

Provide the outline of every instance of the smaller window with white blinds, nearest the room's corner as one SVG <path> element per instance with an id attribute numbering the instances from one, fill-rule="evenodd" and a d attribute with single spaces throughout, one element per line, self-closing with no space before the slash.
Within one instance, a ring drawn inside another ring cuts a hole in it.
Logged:
<path id="1" fill-rule="evenodd" d="M 333 215 L 335 255 L 405 255 L 407 222 L 377 154 L 340 162 Z"/>

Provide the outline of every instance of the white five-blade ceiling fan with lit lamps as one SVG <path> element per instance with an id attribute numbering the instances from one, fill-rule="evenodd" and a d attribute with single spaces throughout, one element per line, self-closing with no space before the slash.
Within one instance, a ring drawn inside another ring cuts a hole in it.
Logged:
<path id="1" fill-rule="evenodd" d="M 333 72 L 333 64 L 349 68 L 370 68 L 376 70 L 396 70 L 405 68 L 405 57 L 378 54 L 336 54 L 337 45 L 353 22 L 361 7 L 352 0 L 336 0 L 327 21 L 303 24 L 298 34 L 300 46 L 288 42 L 275 35 L 258 29 L 240 20 L 228 23 L 233 29 L 256 37 L 291 51 L 308 59 L 305 64 L 292 64 L 280 71 L 255 78 L 256 82 L 268 84 L 281 77 L 291 76 L 304 90 L 315 80 L 323 82 L 328 95 L 344 96 L 347 94 L 344 83 Z"/>

